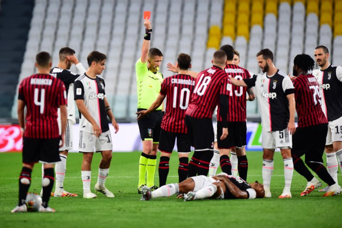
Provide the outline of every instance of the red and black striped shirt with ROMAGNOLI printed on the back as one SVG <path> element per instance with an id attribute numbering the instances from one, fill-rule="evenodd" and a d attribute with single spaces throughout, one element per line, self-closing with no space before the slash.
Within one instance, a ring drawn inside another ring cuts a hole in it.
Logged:
<path id="1" fill-rule="evenodd" d="M 237 80 L 250 78 L 248 70 L 234 64 L 227 64 L 224 68 L 228 77 L 233 77 Z M 229 106 L 228 106 L 228 122 L 246 121 L 246 92 L 247 87 L 232 85 L 229 91 Z M 217 111 L 217 120 L 222 121 L 220 116 L 220 107 Z"/>

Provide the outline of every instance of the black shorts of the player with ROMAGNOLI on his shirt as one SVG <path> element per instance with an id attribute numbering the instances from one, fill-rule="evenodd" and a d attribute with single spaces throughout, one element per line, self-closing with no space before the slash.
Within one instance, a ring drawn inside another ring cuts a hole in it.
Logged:
<path id="1" fill-rule="evenodd" d="M 222 122 L 217 122 L 217 146 L 219 149 L 229 149 L 233 147 L 243 147 L 247 144 L 246 121 L 228 122 L 228 136 L 221 140 Z"/>

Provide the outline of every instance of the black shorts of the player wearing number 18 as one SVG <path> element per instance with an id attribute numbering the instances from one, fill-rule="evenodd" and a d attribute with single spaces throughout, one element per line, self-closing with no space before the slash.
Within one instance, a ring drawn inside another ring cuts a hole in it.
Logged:
<path id="1" fill-rule="evenodd" d="M 191 145 L 195 150 L 212 150 L 214 147 L 214 128 L 212 119 L 193 118 L 185 115 L 185 124 Z"/>

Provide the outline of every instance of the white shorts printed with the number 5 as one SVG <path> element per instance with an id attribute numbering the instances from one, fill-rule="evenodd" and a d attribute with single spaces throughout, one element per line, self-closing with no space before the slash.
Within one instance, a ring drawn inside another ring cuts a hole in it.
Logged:
<path id="1" fill-rule="evenodd" d="M 292 148 L 292 135 L 285 128 L 282 131 L 262 130 L 261 146 L 265 149 L 290 149 Z"/>

